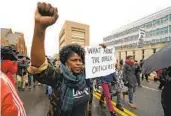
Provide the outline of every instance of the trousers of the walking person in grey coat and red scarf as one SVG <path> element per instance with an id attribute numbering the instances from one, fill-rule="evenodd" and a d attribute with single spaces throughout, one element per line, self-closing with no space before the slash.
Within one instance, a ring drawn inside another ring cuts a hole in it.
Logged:
<path id="1" fill-rule="evenodd" d="M 135 93 L 136 87 L 128 87 L 128 97 L 129 97 L 129 103 L 134 103 L 134 93 Z"/>

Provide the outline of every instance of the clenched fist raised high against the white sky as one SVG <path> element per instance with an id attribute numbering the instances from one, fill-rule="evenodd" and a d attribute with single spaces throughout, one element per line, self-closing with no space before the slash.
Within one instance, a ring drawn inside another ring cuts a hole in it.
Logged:
<path id="1" fill-rule="evenodd" d="M 57 8 L 54 8 L 51 4 L 38 3 L 35 12 L 35 23 L 43 28 L 54 24 L 58 18 Z"/>

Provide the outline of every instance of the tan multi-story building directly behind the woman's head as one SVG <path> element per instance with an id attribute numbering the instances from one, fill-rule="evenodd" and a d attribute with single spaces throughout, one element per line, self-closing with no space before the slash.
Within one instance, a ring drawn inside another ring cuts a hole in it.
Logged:
<path id="1" fill-rule="evenodd" d="M 72 21 L 65 21 L 59 33 L 59 48 L 77 43 L 81 46 L 89 45 L 89 26 Z"/>

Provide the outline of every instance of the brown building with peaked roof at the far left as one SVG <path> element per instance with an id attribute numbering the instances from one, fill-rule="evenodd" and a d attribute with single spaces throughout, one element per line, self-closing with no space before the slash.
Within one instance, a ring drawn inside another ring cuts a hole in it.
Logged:
<path id="1" fill-rule="evenodd" d="M 1 28 L 1 46 L 14 45 L 16 50 L 27 55 L 27 47 L 24 40 L 24 34 L 12 32 L 11 29 Z"/>

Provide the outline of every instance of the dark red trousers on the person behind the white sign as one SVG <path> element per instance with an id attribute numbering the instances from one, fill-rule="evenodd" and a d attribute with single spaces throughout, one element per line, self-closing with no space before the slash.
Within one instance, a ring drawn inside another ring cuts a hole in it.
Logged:
<path id="1" fill-rule="evenodd" d="M 115 112 L 112 102 L 111 102 L 112 98 L 111 98 L 111 94 L 109 91 L 110 85 L 108 83 L 102 83 L 102 88 L 103 88 L 103 93 L 100 97 L 100 100 L 103 101 L 104 97 L 106 97 L 106 104 L 107 104 L 109 112 Z"/>

